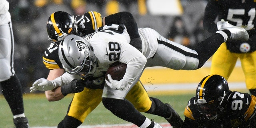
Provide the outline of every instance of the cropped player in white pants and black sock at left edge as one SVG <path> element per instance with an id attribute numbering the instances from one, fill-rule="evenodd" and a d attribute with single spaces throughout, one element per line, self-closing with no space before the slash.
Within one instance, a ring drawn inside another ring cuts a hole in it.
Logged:
<path id="1" fill-rule="evenodd" d="M 28 128 L 28 119 L 24 114 L 22 86 L 13 68 L 14 38 L 9 2 L 0 0 L 0 85 L 4 98 L 8 102 L 15 128 Z"/>

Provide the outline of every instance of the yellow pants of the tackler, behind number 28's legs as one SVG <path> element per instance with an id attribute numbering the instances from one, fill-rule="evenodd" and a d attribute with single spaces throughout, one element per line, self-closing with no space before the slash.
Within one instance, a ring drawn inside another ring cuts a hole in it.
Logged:
<path id="1" fill-rule="evenodd" d="M 68 116 L 72 116 L 83 123 L 88 114 L 102 101 L 102 92 L 102 89 L 84 88 L 82 92 L 76 93 L 70 104 Z M 132 102 L 134 107 L 140 112 L 148 111 L 152 104 L 148 93 L 140 82 L 133 86 L 126 99 Z"/>

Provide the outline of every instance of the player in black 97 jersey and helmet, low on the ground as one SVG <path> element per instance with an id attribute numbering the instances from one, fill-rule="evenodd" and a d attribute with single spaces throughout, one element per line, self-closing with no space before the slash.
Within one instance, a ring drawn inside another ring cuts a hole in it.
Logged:
<path id="1" fill-rule="evenodd" d="M 185 108 L 183 128 L 256 128 L 256 97 L 232 92 L 220 75 L 202 79 Z"/>

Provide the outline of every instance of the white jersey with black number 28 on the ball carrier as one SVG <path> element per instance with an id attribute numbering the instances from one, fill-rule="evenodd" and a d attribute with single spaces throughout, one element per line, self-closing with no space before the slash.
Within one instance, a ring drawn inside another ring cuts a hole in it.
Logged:
<path id="1" fill-rule="evenodd" d="M 97 58 L 95 75 L 106 72 L 110 64 L 121 62 L 127 64 L 123 83 L 131 85 L 141 74 L 146 57 L 131 46 L 130 36 L 123 25 L 104 26 L 97 32 L 87 35 L 86 38 Z"/>

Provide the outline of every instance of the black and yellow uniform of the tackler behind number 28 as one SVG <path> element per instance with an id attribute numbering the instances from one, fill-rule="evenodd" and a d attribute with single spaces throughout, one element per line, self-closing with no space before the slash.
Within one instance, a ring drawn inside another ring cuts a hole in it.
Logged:
<path id="1" fill-rule="evenodd" d="M 122 16 L 122 14 L 114 14 L 114 17 L 116 18 L 113 18 L 113 15 L 107 16 L 105 17 L 105 24 L 113 23 L 127 25 L 127 28 L 129 28 L 128 30 L 130 30 L 130 32 L 132 33 L 129 33 L 131 38 L 139 37 L 138 35 L 136 35 L 136 31 L 131 29 L 133 27 L 132 23 L 125 20 L 125 18 L 130 17 Z M 97 30 L 103 24 L 102 17 L 98 12 L 87 12 L 83 16 L 76 17 L 76 19 L 78 22 L 78 34 L 80 34 L 80 36 L 95 32 L 95 30 Z M 116 21 L 114 19 L 116 19 Z M 138 28 L 135 28 L 138 34 Z M 50 44 L 50 47 L 44 52 L 43 61 L 45 66 L 50 70 L 56 68 L 63 68 L 58 58 L 58 44 Z M 81 123 L 84 122 L 88 114 L 92 112 L 92 110 L 94 110 L 96 106 L 98 106 L 98 104 L 100 104 L 100 102 L 102 101 L 102 91 L 102 89 L 84 88 L 82 92 L 76 93 L 72 99 L 72 102 L 70 103 L 67 115 L 79 120 L 79 126 Z M 132 88 L 132 90 L 130 90 L 130 92 L 126 96 L 126 99 L 132 102 L 135 108 L 140 112 L 147 112 L 148 110 L 150 110 L 152 105 L 152 101 L 150 100 L 152 98 L 148 96 L 146 90 L 144 89 L 144 86 L 140 82 L 138 82 Z"/>

